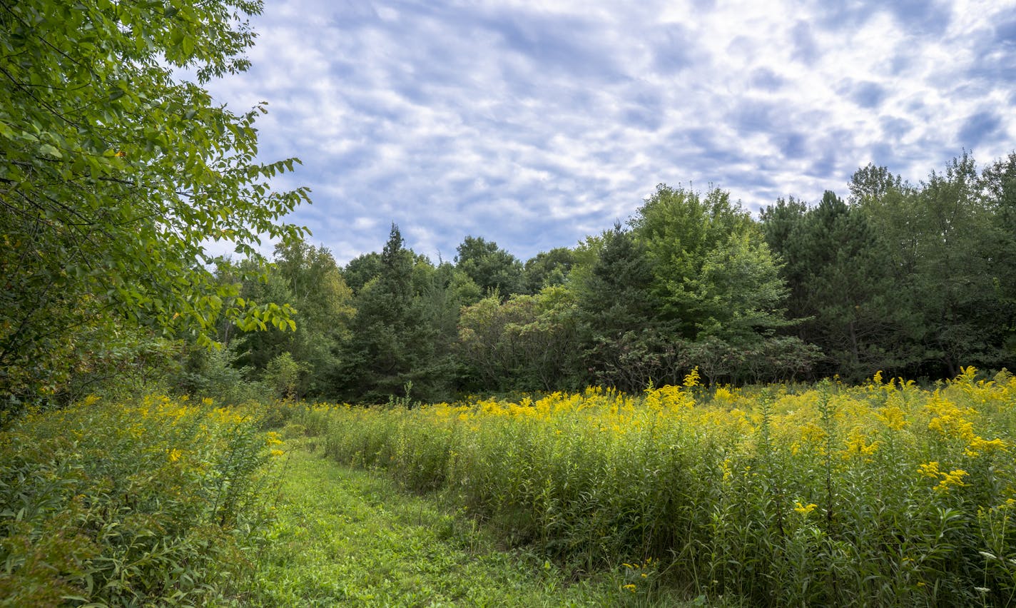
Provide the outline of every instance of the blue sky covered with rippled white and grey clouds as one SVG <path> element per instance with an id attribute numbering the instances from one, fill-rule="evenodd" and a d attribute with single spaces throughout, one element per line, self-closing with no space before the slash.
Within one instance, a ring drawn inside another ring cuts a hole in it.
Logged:
<path id="1" fill-rule="evenodd" d="M 298 157 L 288 218 L 342 264 L 392 223 L 454 261 L 466 236 L 521 260 L 624 222 L 656 184 L 848 195 L 963 150 L 1016 150 L 1016 1 L 265 0 L 247 72 L 264 162 Z"/>

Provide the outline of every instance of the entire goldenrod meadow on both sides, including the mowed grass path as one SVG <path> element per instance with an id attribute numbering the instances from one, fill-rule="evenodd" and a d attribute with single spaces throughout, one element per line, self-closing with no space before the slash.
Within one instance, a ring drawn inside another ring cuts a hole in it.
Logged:
<path id="1" fill-rule="evenodd" d="M 0 605 L 1011 605 L 1014 431 L 1016 378 L 972 368 L 924 388 L 86 400 L 0 434 Z"/>

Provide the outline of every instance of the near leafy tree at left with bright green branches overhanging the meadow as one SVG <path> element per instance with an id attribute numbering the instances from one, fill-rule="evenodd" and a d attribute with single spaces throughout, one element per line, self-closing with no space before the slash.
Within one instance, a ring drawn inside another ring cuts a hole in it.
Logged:
<path id="1" fill-rule="evenodd" d="M 258 106 L 236 115 L 200 86 L 247 68 L 258 1 L 0 3 L 0 394 L 54 392 L 81 327 L 117 322 L 213 340 L 220 315 L 290 325 L 219 285 L 208 241 L 254 255 L 307 190 L 268 180 L 296 161 L 254 162 Z M 178 81 L 187 68 L 197 83 Z M 117 320 L 119 319 L 119 320 Z"/>

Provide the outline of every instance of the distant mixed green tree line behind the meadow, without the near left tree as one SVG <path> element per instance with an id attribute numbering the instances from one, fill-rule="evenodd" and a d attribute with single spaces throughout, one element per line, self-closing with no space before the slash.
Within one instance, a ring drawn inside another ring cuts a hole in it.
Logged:
<path id="1" fill-rule="evenodd" d="M 470 236 L 435 264 L 395 225 L 344 266 L 305 241 L 273 261 L 241 294 L 292 304 L 296 330 L 224 322 L 218 340 L 278 394 L 641 390 L 695 367 L 714 383 L 937 379 L 1016 355 L 1016 154 L 980 171 L 964 154 L 916 185 L 868 166 L 845 199 L 758 218 L 721 189 L 660 185 L 626 223 L 524 263 Z"/>

